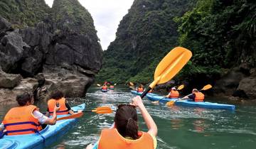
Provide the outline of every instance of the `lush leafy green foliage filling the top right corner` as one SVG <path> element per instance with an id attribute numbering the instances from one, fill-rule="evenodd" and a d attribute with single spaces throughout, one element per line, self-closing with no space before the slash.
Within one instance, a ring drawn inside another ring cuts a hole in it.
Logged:
<path id="1" fill-rule="evenodd" d="M 255 55 L 255 10 L 255 2 L 247 0 L 199 0 L 192 11 L 175 19 L 179 43 L 193 51 L 192 62 L 205 67 L 208 75 L 240 62 L 255 66 L 250 56 Z"/>

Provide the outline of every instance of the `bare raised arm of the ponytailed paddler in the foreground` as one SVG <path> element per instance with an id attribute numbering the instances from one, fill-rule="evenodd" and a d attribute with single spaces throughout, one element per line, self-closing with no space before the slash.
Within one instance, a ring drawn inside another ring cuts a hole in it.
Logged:
<path id="1" fill-rule="evenodd" d="M 132 104 L 134 106 L 138 106 L 140 111 L 142 112 L 142 117 L 146 123 L 147 128 L 149 129 L 148 133 L 151 133 L 154 136 L 157 136 L 157 126 L 154 122 L 153 118 L 150 116 L 149 112 L 146 110 L 142 98 L 140 96 L 136 96 L 132 99 Z"/>

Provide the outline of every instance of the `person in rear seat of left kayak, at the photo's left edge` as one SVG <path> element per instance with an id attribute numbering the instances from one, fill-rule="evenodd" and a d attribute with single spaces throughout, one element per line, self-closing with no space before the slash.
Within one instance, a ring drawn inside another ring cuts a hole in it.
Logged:
<path id="1" fill-rule="evenodd" d="M 33 96 L 30 94 L 18 95 L 16 101 L 19 106 L 10 109 L 0 125 L 0 131 L 5 128 L 6 135 L 36 133 L 42 130 L 42 124 L 54 125 L 56 123 L 56 111 L 60 109 L 59 107 L 54 106 L 53 117 L 48 118 L 41 114 L 39 109 L 33 105 Z"/>

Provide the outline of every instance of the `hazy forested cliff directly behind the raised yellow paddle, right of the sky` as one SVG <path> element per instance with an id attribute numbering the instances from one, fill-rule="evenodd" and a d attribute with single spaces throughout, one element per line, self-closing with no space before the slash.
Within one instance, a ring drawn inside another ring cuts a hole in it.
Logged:
<path id="1" fill-rule="evenodd" d="M 97 81 L 150 82 L 161 58 L 178 45 L 172 18 L 192 5 L 191 0 L 135 0 L 104 53 Z"/>

